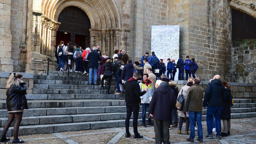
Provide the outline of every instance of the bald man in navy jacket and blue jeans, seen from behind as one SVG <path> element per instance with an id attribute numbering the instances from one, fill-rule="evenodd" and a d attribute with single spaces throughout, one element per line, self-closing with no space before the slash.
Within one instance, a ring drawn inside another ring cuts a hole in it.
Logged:
<path id="1" fill-rule="evenodd" d="M 206 123 L 208 135 L 205 138 L 213 138 L 212 136 L 212 117 L 215 115 L 216 121 L 216 137 L 221 139 L 221 113 L 223 109 L 223 99 L 225 87 L 221 83 L 221 76 L 215 75 L 213 80 L 208 83 L 205 90 L 205 102 L 207 103 Z"/>

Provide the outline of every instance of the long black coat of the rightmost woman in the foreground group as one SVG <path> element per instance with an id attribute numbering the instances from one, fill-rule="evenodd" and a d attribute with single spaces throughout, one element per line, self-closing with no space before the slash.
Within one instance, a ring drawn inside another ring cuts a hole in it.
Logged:
<path id="1" fill-rule="evenodd" d="M 222 114 L 221 114 L 221 119 L 222 120 L 230 120 L 231 119 L 231 109 L 229 106 L 229 98 L 230 98 L 230 94 L 231 94 L 231 90 L 230 88 L 225 88 L 224 94 L 226 95 L 226 99 L 223 100 L 223 110 L 222 110 Z"/>

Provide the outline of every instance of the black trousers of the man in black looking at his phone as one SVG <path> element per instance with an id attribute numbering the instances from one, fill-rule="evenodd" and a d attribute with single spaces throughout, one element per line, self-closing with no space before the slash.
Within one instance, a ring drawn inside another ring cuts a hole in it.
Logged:
<path id="1" fill-rule="evenodd" d="M 126 103 L 126 118 L 125 118 L 126 133 L 129 133 L 130 118 L 131 118 L 131 113 L 133 112 L 133 119 L 132 119 L 133 132 L 134 134 L 138 134 L 139 110 L 140 110 L 140 103 Z"/>

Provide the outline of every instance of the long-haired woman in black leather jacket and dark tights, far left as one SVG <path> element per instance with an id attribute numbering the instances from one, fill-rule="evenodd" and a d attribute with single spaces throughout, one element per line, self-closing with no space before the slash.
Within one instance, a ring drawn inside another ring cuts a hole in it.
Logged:
<path id="1" fill-rule="evenodd" d="M 22 75 L 19 73 L 13 73 L 10 75 L 9 80 L 6 84 L 6 106 L 9 113 L 8 120 L 3 128 L 3 134 L 1 137 L 1 142 L 9 141 L 6 138 L 6 132 L 8 131 L 10 125 L 14 124 L 14 139 L 13 143 L 24 143 L 24 141 L 18 138 L 19 125 L 22 120 L 22 115 L 24 109 L 28 109 L 28 103 L 25 94 L 26 93 L 26 83 L 22 81 Z"/>

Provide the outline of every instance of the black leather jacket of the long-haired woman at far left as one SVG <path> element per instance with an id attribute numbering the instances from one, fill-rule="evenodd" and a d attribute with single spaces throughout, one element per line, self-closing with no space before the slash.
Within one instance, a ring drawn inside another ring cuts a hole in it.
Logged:
<path id="1" fill-rule="evenodd" d="M 26 83 L 20 83 L 19 86 L 13 84 L 6 90 L 6 106 L 8 111 L 28 109 L 28 103 L 25 96 L 25 94 L 27 94 L 26 90 Z"/>

